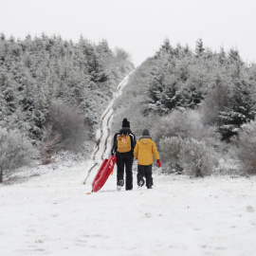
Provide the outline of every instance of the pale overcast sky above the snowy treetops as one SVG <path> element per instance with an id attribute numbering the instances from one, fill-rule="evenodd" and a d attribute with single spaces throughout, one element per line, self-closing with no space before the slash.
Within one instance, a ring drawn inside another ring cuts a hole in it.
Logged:
<path id="1" fill-rule="evenodd" d="M 175 46 L 237 48 L 247 63 L 256 62 L 255 0 L 0 0 L 0 32 L 80 36 L 119 46 L 141 64 L 169 38 Z"/>

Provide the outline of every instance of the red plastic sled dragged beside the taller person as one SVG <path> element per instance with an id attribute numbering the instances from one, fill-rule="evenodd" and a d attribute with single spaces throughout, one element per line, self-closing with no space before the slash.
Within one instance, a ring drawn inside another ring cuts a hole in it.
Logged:
<path id="1" fill-rule="evenodd" d="M 92 183 L 92 192 L 99 192 L 104 186 L 110 174 L 113 174 L 114 166 L 117 161 L 117 156 L 111 155 L 109 159 L 104 159 L 98 174 L 95 176 Z"/>

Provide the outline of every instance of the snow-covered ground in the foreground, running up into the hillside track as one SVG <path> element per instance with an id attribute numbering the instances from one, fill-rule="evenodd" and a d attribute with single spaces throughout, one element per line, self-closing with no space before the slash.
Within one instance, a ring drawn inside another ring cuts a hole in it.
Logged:
<path id="1" fill-rule="evenodd" d="M 86 194 L 109 153 L 111 108 L 105 114 L 91 159 L 27 169 L 0 185 L 1 256 L 256 255 L 255 177 L 155 169 L 153 190 L 138 190 L 135 173 L 134 190 L 117 192 L 115 168 Z"/>

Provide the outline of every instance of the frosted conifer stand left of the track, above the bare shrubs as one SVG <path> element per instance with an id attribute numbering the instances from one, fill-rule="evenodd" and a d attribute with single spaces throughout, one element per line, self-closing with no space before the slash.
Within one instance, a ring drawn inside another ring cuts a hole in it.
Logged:
<path id="1" fill-rule="evenodd" d="M 122 64 L 125 72 L 133 68 L 127 60 Z M 58 102 L 76 106 L 93 131 L 102 106 L 112 97 L 109 90 L 125 74 L 121 68 L 105 40 L 97 46 L 82 38 L 75 44 L 46 34 L 25 40 L 1 34 L 0 127 L 41 139 L 49 111 Z"/>

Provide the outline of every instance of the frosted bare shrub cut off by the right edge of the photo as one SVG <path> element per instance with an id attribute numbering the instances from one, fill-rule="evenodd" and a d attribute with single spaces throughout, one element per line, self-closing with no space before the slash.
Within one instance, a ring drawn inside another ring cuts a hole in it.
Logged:
<path id="1" fill-rule="evenodd" d="M 242 125 L 241 128 L 236 141 L 237 156 L 245 173 L 256 174 L 256 120 Z"/>

